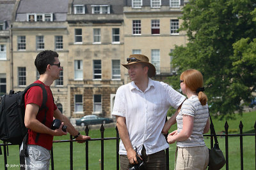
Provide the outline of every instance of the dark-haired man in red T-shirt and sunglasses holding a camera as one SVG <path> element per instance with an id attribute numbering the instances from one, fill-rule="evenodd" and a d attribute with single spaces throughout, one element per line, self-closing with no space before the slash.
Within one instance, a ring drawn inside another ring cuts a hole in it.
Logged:
<path id="1" fill-rule="evenodd" d="M 63 136 L 67 132 L 63 131 L 63 125 L 67 126 L 67 131 L 74 136 L 79 143 L 83 143 L 90 136 L 80 135 L 67 117 L 61 114 L 50 89 L 54 80 L 60 78 L 60 60 L 58 53 L 45 50 L 38 53 L 35 59 L 35 66 L 40 74 L 39 80 L 35 83 L 44 85 L 47 92 L 47 101 L 42 108 L 43 90 L 39 86 L 31 87 L 24 96 L 25 117 L 24 124 L 29 129 L 27 139 L 24 138 L 20 146 L 21 155 L 25 155 L 26 169 L 49 169 L 50 153 L 54 136 Z M 58 129 L 52 129 L 53 118 L 61 121 Z M 23 146 L 26 146 L 25 148 Z"/>

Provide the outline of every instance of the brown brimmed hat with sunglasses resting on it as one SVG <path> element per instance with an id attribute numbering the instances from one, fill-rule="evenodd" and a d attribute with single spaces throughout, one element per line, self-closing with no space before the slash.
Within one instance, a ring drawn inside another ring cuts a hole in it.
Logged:
<path id="1" fill-rule="evenodd" d="M 127 58 L 127 64 L 122 64 L 125 68 L 131 64 L 136 64 L 138 62 L 145 64 L 148 66 L 148 77 L 153 77 L 156 74 L 156 68 L 153 64 L 151 64 L 146 55 L 142 54 L 132 54 Z"/>

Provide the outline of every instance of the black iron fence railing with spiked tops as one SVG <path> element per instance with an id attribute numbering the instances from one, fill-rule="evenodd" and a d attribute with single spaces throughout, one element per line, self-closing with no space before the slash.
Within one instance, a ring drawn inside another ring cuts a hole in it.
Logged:
<path id="1" fill-rule="evenodd" d="M 243 170 L 244 166 L 243 166 L 243 137 L 244 136 L 255 136 L 255 155 L 256 155 L 256 122 L 254 124 L 254 133 L 252 134 L 243 134 L 243 123 L 240 122 L 239 124 L 239 134 L 228 134 L 228 123 L 227 121 L 225 122 L 225 134 L 217 134 L 216 136 L 223 136 L 225 137 L 225 157 L 226 157 L 226 170 L 228 170 L 228 137 L 231 137 L 231 136 L 237 136 L 239 137 L 240 139 L 240 160 L 241 160 L 241 170 Z M 119 134 L 118 134 L 118 130 L 117 130 L 117 127 L 116 127 L 116 137 L 114 138 L 104 138 L 104 131 L 105 131 L 105 128 L 103 125 L 101 125 L 100 127 L 100 138 L 93 138 L 93 139 L 88 139 L 86 142 L 85 142 L 85 155 L 86 155 L 86 170 L 89 169 L 89 154 L 88 154 L 88 148 L 89 148 L 89 141 L 100 141 L 101 142 L 101 149 L 100 149 L 100 152 L 101 152 L 101 169 L 103 170 L 104 169 L 104 141 L 106 140 L 115 140 L 116 141 L 116 169 L 118 170 L 119 169 L 119 141 L 120 141 L 120 138 L 119 138 Z M 88 126 L 86 126 L 86 128 L 84 129 L 84 132 L 85 134 L 88 136 L 89 134 L 89 128 Z M 211 148 L 213 147 L 213 135 L 212 133 L 211 134 L 206 134 L 204 136 L 209 136 L 211 137 Z M 70 140 L 61 140 L 61 141 L 53 141 L 54 143 L 70 143 L 69 145 L 69 148 L 70 148 L 70 170 L 73 170 L 73 142 L 74 140 L 72 140 L 72 136 L 70 136 Z M 8 163 L 7 163 L 7 153 L 8 153 L 8 147 L 6 146 L 9 146 L 9 145 L 12 145 L 10 143 L 1 143 L 0 144 L 0 147 L 3 146 L 3 153 L 4 153 L 4 169 L 7 170 L 8 167 L 6 166 Z M 53 150 L 54 148 L 52 147 L 52 150 L 51 150 L 51 169 L 54 170 L 54 157 L 53 157 Z M 2 154 L 2 151 L 1 151 L 1 148 L 0 148 L 0 155 Z M 254 156 L 255 156 L 254 155 Z M 169 150 L 166 149 L 166 167 L 167 167 L 167 170 L 169 169 Z M 1 169 L 1 167 L 0 167 Z M 255 169 L 256 169 L 256 157 L 255 157 Z"/>

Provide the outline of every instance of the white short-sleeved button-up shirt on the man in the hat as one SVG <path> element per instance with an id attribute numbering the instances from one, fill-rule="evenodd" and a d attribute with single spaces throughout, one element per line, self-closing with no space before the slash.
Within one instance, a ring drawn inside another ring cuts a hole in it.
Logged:
<path id="1" fill-rule="evenodd" d="M 125 117 L 132 146 L 141 155 L 143 145 L 147 155 L 169 147 L 161 133 L 170 106 L 177 109 L 186 99 L 168 84 L 148 78 L 148 87 L 142 92 L 132 81 L 116 91 L 112 115 Z M 127 155 L 122 140 L 120 155 Z"/>

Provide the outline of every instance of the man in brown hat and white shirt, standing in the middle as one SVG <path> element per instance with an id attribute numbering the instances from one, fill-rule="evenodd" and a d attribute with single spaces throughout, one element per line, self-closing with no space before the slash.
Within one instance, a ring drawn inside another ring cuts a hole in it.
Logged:
<path id="1" fill-rule="evenodd" d="M 112 112 L 121 138 L 121 169 L 138 164 L 135 148 L 146 169 L 166 169 L 164 150 L 169 145 L 162 134 L 166 113 L 170 106 L 178 109 L 186 99 L 168 84 L 152 80 L 156 68 L 148 61 L 147 56 L 134 54 L 122 64 L 132 81 L 116 91 Z M 175 115 L 171 124 L 176 122 Z"/>

